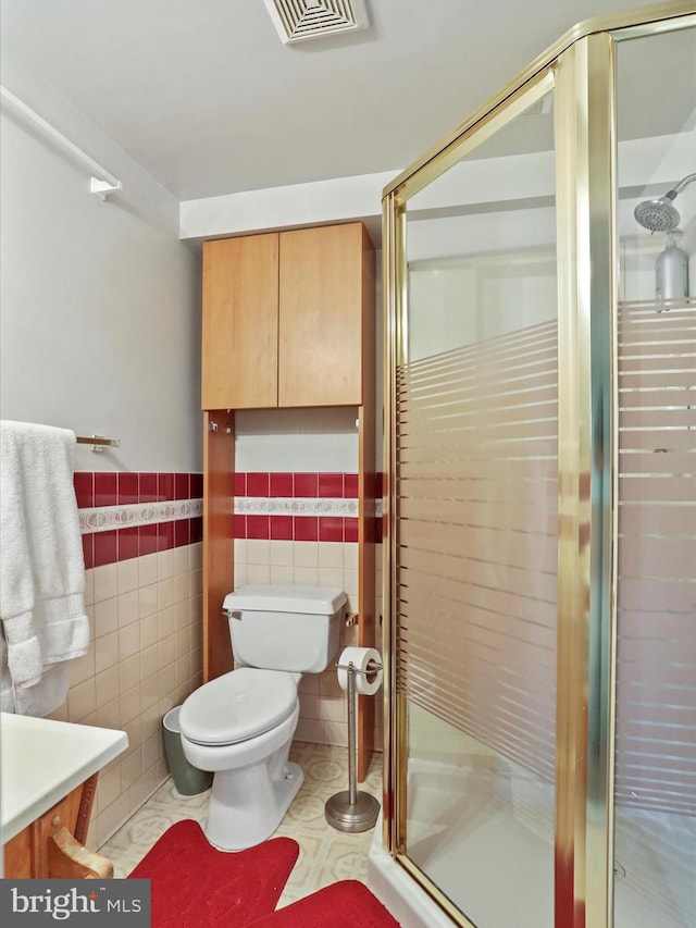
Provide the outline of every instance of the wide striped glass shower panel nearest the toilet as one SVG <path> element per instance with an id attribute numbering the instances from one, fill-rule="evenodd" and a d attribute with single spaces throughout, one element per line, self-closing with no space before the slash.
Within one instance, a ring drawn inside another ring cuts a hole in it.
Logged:
<path id="1" fill-rule="evenodd" d="M 407 202 L 400 846 L 480 928 L 554 924 L 552 94 Z"/>

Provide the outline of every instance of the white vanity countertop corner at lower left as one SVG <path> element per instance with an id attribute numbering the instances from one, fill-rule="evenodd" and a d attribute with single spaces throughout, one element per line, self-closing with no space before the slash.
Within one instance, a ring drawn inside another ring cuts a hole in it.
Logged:
<path id="1" fill-rule="evenodd" d="M 0 713 L 2 842 L 128 746 L 125 731 Z"/>

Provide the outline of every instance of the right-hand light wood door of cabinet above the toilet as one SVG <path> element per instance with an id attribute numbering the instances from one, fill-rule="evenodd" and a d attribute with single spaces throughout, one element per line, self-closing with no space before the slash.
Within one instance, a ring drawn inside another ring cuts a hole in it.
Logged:
<path id="1" fill-rule="evenodd" d="M 361 223 L 281 233 L 278 406 L 362 403 L 366 243 Z"/>

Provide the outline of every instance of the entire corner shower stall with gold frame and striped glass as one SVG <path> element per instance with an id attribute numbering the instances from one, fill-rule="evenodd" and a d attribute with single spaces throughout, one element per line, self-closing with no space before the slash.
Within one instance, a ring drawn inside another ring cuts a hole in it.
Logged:
<path id="1" fill-rule="evenodd" d="M 696 925 L 695 166 L 667 3 L 576 27 L 385 190 L 369 882 L 407 928 Z"/>

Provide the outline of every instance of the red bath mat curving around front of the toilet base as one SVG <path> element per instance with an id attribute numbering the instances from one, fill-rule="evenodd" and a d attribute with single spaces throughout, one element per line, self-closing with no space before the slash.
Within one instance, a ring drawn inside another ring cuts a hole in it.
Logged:
<path id="1" fill-rule="evenodd" d="M 225 853 L 186 819 L 164 832 L 128 878 L 151 880 L 151 928 L 241 928 L 273 912 L 299 850 L 290 838 L 272 838 Z"/>

